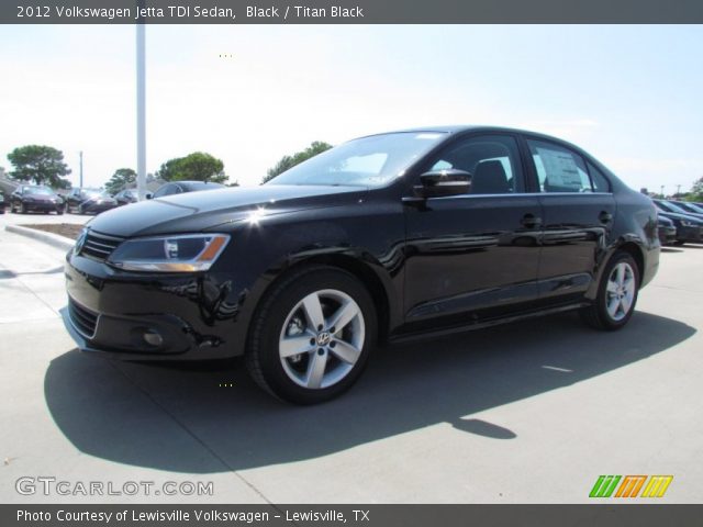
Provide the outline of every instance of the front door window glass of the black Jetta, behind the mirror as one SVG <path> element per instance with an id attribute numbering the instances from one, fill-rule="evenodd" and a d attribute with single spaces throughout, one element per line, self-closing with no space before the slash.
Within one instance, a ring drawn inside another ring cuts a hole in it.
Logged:
<path id="1" fill-rule="evenodd" d="M 469 173 L 469 194 L 523 192 L 520 150 L 507 135 L 472 136 L 448 146 L 428 170 L 464 170 Z"/>

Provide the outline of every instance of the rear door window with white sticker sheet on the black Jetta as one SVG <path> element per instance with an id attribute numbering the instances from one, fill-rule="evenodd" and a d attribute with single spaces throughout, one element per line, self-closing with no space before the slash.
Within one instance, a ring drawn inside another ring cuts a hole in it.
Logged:
<path id="1" fill-rule="evenodd" d="M 583 158 L 567 148 L 527 139 L 540 192 L 593 192 Z"/>

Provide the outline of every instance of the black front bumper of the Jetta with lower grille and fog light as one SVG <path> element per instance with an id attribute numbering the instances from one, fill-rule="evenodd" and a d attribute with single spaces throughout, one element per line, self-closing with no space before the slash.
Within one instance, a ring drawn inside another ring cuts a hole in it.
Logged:
<path id="1" fill-rule="evenodd" d="M 244 352 L 224 277 L 124 272 L 69 253 L 65 325 L 88 352 L 131 360 L 204 360 Z M 157 336 L 157 337 L 155 337 Z"/>

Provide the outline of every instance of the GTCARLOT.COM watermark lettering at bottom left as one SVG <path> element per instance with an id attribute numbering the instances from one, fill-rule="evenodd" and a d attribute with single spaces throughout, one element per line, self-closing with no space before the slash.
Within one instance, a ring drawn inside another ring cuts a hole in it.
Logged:
<path id="1" fill-rule="evenodd" d="M 212 496 L 212 481 L 66 481 L 51 475 L 24 475 L 14 482 L 23 496 Z"/>

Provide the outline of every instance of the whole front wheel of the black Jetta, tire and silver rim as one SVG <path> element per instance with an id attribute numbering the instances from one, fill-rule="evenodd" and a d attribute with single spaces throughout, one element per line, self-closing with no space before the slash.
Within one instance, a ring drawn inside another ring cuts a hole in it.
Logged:
<path id="1" fill-rule="evenodd" d="M 344 322 L 336 327 L 339 316 Z M 373 301 L 353 274 L 309 267 L 266 294 L 254 315 L 245 361 L 256 383 L 276 397 L 322 403 L 359 378 L 377 330 Z"/>

